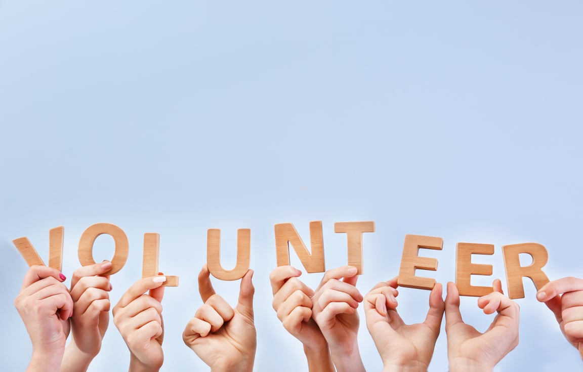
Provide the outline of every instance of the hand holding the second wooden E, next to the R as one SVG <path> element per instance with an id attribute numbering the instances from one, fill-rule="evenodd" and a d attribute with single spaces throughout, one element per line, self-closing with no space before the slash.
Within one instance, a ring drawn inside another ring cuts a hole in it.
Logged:
<path id="1" fill-rule="evenodd" d="M 518 304 L 502 294 L 500 280 L 494 280 L 493 287 L 494 292 L 477 300 L 477 306 L 485 314 L 498 313 L 482 334 L 463 322 L 459 312 L 458 288 L 455 283 L 447 284 L 445 332 L 451 372 L 491 371 L 518 345 Z"/>

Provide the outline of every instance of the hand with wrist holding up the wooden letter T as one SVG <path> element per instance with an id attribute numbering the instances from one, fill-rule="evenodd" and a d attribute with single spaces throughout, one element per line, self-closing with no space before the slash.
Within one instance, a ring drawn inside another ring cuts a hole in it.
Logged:
<path id="1" fill-rule="evenodd" d="M 363 296 L 355 287 L 356 273 L 354 266 L 326 271 L 312 296 L 312 318 L 328 342 L 338 372 L 364 371 L 357 342 L 360 321 L 356 312 Z"/>

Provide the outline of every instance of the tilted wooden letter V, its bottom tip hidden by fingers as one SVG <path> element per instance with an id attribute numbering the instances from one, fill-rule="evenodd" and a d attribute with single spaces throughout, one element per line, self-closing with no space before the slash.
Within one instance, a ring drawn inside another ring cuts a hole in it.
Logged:
<path id="1" fill-rule="evenodd" d="M 63 265 L 63 237 L 65 227 L 59 226 L 48 231 L 48 266 L 61 271 Z M 17 238 L 12 241 L 20 252 L 24 261 L 29 266 L 45 266 L 44 261 L 38 255 L 27 237 Z"/>

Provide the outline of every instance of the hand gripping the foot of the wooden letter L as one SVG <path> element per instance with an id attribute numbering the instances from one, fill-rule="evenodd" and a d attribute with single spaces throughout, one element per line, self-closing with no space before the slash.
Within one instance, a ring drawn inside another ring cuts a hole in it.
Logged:
<path id="1" fill-rule="evenodd" d="M 162 341 L 162 298 L 166 281 L 164 276 L 150 276 L 138 280 L 113 308 L 115 327 L 131 353 L 131 372 L 158 371 L 164 362 Z M 148 294 L 144 294 L 148 292 Z"/>

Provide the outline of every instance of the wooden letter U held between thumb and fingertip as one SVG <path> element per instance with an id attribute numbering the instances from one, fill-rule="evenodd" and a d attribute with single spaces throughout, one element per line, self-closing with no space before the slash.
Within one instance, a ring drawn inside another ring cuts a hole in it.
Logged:
<path id="1" fill-rule="evenodd" d="M 220 280 L 243 278 L 249 270 L 251 255 L 251 230 L 237 230 L 237 264 L 225 270 L 220 264 L 220 229 L 209 229 L 206 234 L 206 264 L 210 273 Z"/>

